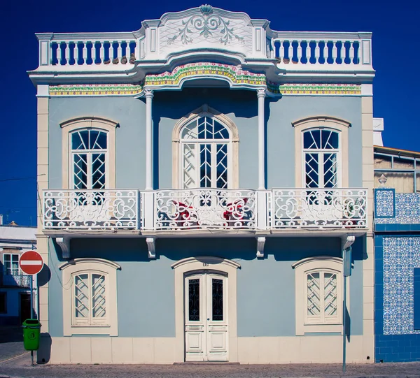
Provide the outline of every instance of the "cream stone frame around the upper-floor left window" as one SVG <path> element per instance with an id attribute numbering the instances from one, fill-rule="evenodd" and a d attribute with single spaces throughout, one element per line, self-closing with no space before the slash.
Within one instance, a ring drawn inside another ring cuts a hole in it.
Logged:
<path id="1" fill-rule="evenodd" d="M 70 164 L 71 159 L 71 134 L 74 131 L 98 130 L 107 134 L 106 152 L 106 182 L 105 189 L 116 187 L 116 128 L 117 122 L 109 119 L 97 117 L 81 117 L 70 119 L 60 124 L 62 128 L 62 187 L 63 189 L 73 189 L 71 173 L 73 171 Z"/>

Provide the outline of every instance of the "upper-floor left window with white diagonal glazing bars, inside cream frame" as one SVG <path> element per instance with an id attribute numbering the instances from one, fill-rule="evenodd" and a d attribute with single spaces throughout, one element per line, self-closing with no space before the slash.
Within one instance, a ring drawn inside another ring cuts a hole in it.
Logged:
<path id="1" fill-rule="evenodd" d="M 94 129 L 71 133 L 73 189 L 105 189 L 108 135 Z"/>

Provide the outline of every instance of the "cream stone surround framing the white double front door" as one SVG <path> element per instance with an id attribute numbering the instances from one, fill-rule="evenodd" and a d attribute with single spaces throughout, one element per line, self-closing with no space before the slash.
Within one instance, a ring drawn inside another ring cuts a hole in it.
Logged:
<path id="1" fill-rule="evenodd" d="M 229 361 L 237 362 L 237 269 L 235 261 L 214 256 L 188 257 L 172 264 L 175 272 L 175 342 L 174 361 L 185 359 L 184 331 L 184 277 L 195 270 L 214 270 L 228 275 Z"/>

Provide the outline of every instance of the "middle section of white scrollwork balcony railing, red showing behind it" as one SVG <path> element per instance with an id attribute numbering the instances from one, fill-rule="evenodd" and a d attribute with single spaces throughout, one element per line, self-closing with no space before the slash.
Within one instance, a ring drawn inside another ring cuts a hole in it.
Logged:
<path id="1" fill-rule="evenodd" d="M 155 230 L 253 230 L 255 191 L 183 189 L 155 191 Z"/>

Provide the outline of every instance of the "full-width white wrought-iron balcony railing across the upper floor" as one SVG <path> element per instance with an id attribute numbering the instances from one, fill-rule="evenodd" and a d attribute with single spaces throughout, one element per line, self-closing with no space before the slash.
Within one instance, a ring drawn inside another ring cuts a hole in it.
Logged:
<path id="1" fill-rule="evenodd" d="M 43 191 L 43 230 L 133 234 L 367 229 L 367 189 Z"/>

